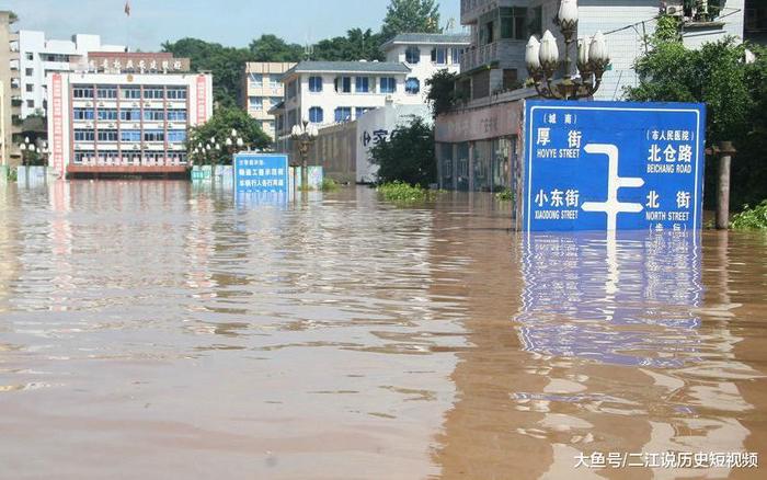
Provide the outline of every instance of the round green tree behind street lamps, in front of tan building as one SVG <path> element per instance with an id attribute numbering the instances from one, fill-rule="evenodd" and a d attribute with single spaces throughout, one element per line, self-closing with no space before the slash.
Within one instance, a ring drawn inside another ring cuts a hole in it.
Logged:
<path id="1" fill-rule="evenodd" d="M 231 137 L 232 129 L 236 129 L 242 140 L 251 148 L 264 149 L 272 144 L 272 139 L 259 126 L 248 112 L 239 107 L 220 107 L 210 119 L 196 127 L 192 127 L 186 140 L 187 151 L 194 151 L 199 145 L 207 146 L 215 139 L 221 148 L 225 147 L 227 138 Z M 195 163 L 209 164 L 231 164 L 231 156 L 222 150 L 206 150 L 204 159 L 193 159 Z"/>

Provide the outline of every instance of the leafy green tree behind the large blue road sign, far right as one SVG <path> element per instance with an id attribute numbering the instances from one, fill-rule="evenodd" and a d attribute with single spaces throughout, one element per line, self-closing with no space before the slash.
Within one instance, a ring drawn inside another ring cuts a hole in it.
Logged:
<path id="1" fill-rule="evenodd" d="M 702 102 L 707 105 L 707 144 L 733 141 L 732 205 L 755 204 L 767 197 L 767 49 L 728 38 L 705 44 L 698 50 L 684 46 L 662 19 L 652 49 L 636 65 L 637 87 L 627 89 L 636 101 Z M 744 61 L 746 49 L 753 62 Z M 707 192 L 714 192 L 716 163 L 707 165 Z M 712 205 L 712 196 L 707 196 Z"/>

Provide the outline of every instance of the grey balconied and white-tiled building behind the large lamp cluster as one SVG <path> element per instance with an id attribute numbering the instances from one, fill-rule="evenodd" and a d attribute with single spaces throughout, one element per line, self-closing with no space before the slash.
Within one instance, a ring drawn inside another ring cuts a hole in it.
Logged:
<path id="1" fill-rule="evenodd" d="M 665 2 L 665 13 L 683 19 L 685 44 L 697 47 L 726 35 L 743 34 L 743 0 L 726 0 L 719 15 L 707 19 Z M 600 31 L 610 52 L 595 100 L 621 100 L 639 82 L 636 60 L 649 45 L 662 2 L 657 0 L 580 0 L 577 37 Z M 528 78 L 525 47 L 530 35 L 556 33 L 559 0 L 461 0 L 461 23 L 471 28 L 471 46 L 461 58 L 457 83 L 465 99 L 435 123 L 439 185 L 443 188 L 497 191 L 520 184 L 522 108 L 535 89 L 518 89 Z M 571 56 L 574 53 L 571 52 Z"/>

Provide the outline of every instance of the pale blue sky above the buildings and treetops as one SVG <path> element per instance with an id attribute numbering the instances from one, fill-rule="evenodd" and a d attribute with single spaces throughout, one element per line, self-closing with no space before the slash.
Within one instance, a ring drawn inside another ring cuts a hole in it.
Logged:
<path id="1" fill-rule="evenodd" d="M 165 41 L 186 36 L 227 46 L 248 46 L 273 33 L 288 42 L 316 43 L 350 28 L 378 31 L 389 0 L 0 0 L 0 10 L 19 15 L 15 27 L 38 30 L 46 38 L 75 33 L 102 36 L 102 43 L 156 52 Z M 456 19 L 460 0 L 442 0 L 440 23 Z M 460 25 L 458 26 L 460 28 Z"/>

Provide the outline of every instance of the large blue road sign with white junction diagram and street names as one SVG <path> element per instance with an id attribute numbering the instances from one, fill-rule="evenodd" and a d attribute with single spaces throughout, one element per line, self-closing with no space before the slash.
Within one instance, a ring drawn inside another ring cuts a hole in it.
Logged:
<path id="1" fill-rule="evenodd" d="M 705 132 L 702 104 L 526 102 L 523 229 L 700 229 Z"/>

